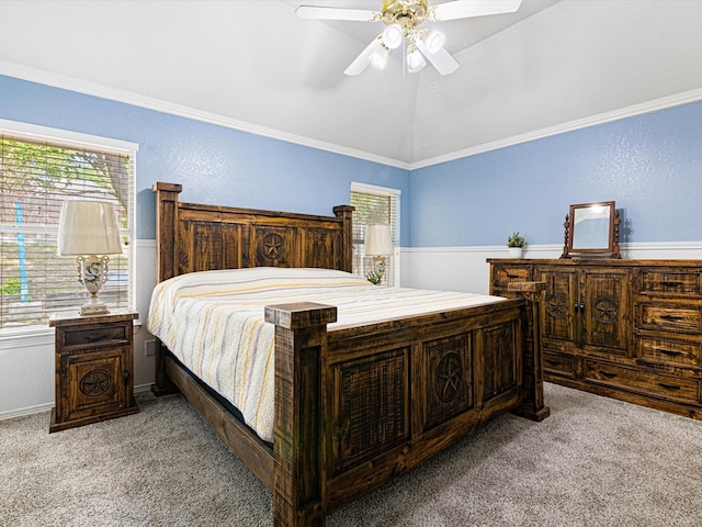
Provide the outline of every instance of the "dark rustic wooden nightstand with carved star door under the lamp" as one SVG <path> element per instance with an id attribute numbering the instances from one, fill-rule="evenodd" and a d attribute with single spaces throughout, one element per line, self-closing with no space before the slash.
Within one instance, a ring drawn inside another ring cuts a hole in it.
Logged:
<path id="1" fill-rule="evenodd" d="M 48 431 L 136 414 L 132 311 L 54 315 L 56 406 Z"/>

